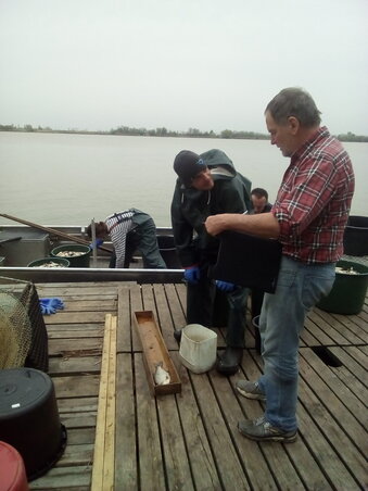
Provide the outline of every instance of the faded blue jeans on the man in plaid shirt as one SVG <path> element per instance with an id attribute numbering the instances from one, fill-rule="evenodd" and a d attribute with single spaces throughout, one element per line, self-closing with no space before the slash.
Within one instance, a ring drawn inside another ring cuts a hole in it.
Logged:
<path id="1" fill-rule="evenodd" d="M 281 260 L 277 289 L 265 293 L 259 318 L 266 394 L 265 418 L 284 431 L 297 428 L 299 339 L 307 312 L 327 295 L 334 281 L 334 263 L 307 265 Z"/>

